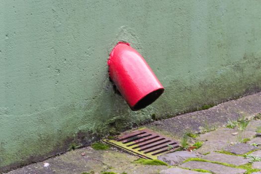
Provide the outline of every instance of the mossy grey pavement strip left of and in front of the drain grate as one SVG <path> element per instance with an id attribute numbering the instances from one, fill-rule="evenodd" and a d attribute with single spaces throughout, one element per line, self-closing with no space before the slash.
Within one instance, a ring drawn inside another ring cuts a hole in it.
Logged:
<path id="1" fill-rule="evenodd" d="M 114 148 L 104 151 L 86 147 L 50 158 L 44 162 L 25 166 L 8 174 L 82 174 L 90 171 L 95 174 L 100 174 L 102 171 L 113 171 L 119 174 L 123 172 L 127 174 L 158 174 L 161 170 L 168 169 L 167 166 L 133 164 L 132 162 L 138 158 Z"/>

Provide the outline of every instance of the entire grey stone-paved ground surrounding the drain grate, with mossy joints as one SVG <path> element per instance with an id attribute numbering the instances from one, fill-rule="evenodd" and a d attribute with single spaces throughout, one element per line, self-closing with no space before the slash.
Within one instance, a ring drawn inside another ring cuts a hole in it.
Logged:
<path id="1" fill-rule="evenodd" d="M 109 150 L 86 147 L 8 174 L 261 174 L 260 106 L 261 93 L 257 93 L 146 125 L 179 140 L 185 132 L 197 133 L 188 143 L 202 142 L 202 147 L 158 158 L 169 166 L 136 164 L 133 162 L 138 157 L 112 147 Z"/>

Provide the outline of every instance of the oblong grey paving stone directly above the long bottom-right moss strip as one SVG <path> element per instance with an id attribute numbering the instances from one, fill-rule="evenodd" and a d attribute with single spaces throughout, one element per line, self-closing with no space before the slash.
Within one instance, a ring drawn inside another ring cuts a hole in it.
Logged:
<path id="1" fill-rule="evenodd" d="M 210 153 L 201 158 L 209 161 L 218 161 L 218 162 L 232 164 L 236 166 L 245 165 L 250 161 L 250 159 L 245 159 L 244 157 L 239 157 L 235 155 L 226 155 L 226 154 L 215 153 L 215 152 Z"/>

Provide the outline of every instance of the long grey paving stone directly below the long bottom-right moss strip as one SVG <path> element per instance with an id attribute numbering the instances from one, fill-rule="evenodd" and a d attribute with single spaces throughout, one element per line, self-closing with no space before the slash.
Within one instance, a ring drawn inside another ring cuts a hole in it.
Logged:
<path id="1" fill-rule="evenodd" d="M 182 164 L 180 167 L 189 168 L 189 169 L 204 169 L 215 174 L 244 174 L 247 172 L 243 169 L 236 169 L 230 168 L 223 165 L 207 163 L 207 162 L 197 162 L 197 161 L 190 161 L 187 163 Z"/>

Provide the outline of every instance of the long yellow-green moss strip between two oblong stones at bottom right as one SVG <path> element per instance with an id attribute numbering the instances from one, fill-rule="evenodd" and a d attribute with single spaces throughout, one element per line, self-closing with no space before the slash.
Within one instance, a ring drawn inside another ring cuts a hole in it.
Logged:
<path id="1" fill-rule="evenodd" d="M 209 160 L 204 160 L 204 159 L 200 159 L 200 158 L 189 158 L 189 159 L 183 161 L 183 163 L 186 163 L 189 161 L 208 162 L 208 163 L 214 163 L 214 164 L 223 165 L 223 166 L 227 166 L 227 167 L 231 167 L 231 168 L 244 169 L 247 171 L 244 174 L 252 174 L 253 172 L 261 171 L 259 169 L 253 169 L 251 163 L 248 163 L 246 165 L 241 165 L 241 166 L 235 166 L 232 164 L 227 164 L 227 163 L 222 163 L 222 162 L 217 162 L 217 161 L 209 161 Z"/>

